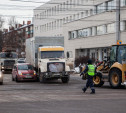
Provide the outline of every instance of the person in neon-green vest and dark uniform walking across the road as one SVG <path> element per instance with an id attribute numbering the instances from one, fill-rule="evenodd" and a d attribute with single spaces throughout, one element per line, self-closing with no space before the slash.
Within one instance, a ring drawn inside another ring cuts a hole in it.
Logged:
<path id="1" fill-rule="evenodd" d="M 85 70 L 80 74 L 83 75 L 87 73 L 87 83 L 84 88 L 82 88 L 83 92 L 85 93 L 87 88 L 90 86 L 91 88 L 91 93 L 90 94 L 95 94 L 95 89 L 94 89 L 94 84 L 93 84 L 93 77 L 95 76 L 96 68 L 94 65 L 92 65 L 92 60 L 88 60 L 88 65 L 86 65 Z"/>

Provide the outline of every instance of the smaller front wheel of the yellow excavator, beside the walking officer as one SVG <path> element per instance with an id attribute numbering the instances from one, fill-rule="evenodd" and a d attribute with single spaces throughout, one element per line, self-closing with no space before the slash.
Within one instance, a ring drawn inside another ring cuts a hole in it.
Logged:
<path id="1" fill-rule="evenodd" d="M 95 75 L 96 77 L 93 77 L 93 83 L 95 87 L 101 87 L 104 84 L 104 81 L 102 81 L 102 74 L 101 73 L 97 73 L 97 75 Z"/>

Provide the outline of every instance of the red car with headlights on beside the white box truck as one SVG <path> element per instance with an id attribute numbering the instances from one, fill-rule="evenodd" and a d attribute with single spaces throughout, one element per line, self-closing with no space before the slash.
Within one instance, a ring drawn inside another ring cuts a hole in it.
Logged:
<path id="1" fill-rule="evenodd" d="M 12 69 L 12 81 L 37 80 L 34 67 L 29 63 L 17 63 Z"/>

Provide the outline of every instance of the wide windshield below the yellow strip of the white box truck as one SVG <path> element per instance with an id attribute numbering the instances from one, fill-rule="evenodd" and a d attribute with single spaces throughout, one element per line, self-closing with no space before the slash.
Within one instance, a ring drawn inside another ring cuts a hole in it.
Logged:
<path id="1" fill-rule="evenodd" d="M 41 59 L 64 58 L 64 51 L 41 51 Z"/>

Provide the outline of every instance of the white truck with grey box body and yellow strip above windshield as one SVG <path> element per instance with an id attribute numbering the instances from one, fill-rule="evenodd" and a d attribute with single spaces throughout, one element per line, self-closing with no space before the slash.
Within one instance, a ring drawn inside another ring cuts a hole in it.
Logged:
<path id="1" fill-rule="evenodd" d="M 38 72 L 40 82 L 61 79 L 69 82 L 70 68 L 64 57 L 63 37 L 33 37 L 26 40 L 26 62 Z"/>

